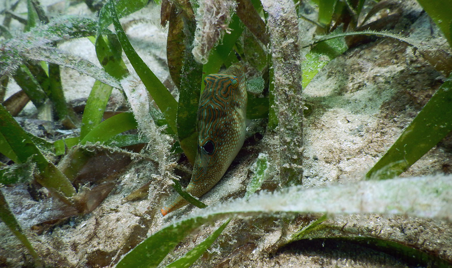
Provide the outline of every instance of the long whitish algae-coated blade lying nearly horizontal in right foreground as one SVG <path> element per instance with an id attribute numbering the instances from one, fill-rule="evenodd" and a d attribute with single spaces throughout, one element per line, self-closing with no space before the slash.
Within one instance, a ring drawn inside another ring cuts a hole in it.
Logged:
<path id="1" fill-rule="evenodd" d="M 283 192 L 261 192 L 193 212 L 188 219 L 205 221 L 256 215 L 300 213 L 381 213 L 452 221 L 452 176 L 430 175 L 360 181 L 323 188 L 291 186 Z M 359 193 L 359 194 L 357 194 Z M 258 214 L 256 214 L 258 213 Z"/>

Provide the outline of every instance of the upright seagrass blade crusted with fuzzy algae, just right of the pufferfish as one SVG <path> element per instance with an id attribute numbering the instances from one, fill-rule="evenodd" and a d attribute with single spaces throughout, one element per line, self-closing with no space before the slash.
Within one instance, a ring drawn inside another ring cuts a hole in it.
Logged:
<path id="1" fill-rule="evenodd" d="M 272 45 L 275 113 L 278 119 L 280 178 L 282 187 L 301 184 L 303 173 L 303 97 L 298 17 L 292 0 L 262 0 L 268 12 L 267 26 Z M 273 105 L 273 100 L 270 100 Z"/>

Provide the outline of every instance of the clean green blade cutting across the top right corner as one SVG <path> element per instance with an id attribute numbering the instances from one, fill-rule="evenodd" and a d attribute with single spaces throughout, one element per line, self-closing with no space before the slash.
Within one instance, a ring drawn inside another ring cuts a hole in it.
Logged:
<path id="1" fill-rule="evenodd" d="M 418 0 L 418 2 L 435 24 L 438 25 L 452 47 L 452 4 L 450 0 Z"/>

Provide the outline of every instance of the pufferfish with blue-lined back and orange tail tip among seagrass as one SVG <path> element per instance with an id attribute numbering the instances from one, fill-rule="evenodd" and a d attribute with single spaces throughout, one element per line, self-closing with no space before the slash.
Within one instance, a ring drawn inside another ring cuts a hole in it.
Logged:
<path id="1" fill-rule="evenodd" d="M 206 87 L 199 99 L 196 125 L 198 150 L 186 189 L 195 197 L 201 197 L 218 183 L 243 146 L 248 102 L 245 84 L 239 63 L 204 79 Z M 187 204 L 184 197 L 178 196 L 160 212 L 165 216 Z"/>

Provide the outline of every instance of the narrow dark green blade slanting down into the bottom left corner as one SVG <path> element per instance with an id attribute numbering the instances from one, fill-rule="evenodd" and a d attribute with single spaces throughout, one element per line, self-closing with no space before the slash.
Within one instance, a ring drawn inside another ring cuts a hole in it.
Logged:
<path id="1" fill-rule="evenodd" d="M 36 251 L 33 249 L 33 246 L 28 241 L 27 237 L 24 235 L 22 228 L 20 228 L 19 223 L 16 221 L 14 214 L 9 209 L 8 203 L 5 200 L 5 196 L 3 195 L 0 189 L 0 220 L 5 223 L 8 229 L 24 244 L 25 248 L 28 249 L 30 254 L 35 259 L 36 267 L 42 267 L 41 258 L 38 256 Z"/>

